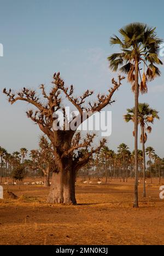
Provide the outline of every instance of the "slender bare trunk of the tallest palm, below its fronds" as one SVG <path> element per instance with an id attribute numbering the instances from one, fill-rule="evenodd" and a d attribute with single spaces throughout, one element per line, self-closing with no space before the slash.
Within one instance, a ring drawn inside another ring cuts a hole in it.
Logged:
<path id="1" fill-rule="evenodd" d="M 135 107 L 134 107 L 134 152 L 135 152 L 135 180 L 134 180 L 134 203 L 138 207 L 138 59 L 135 63 Z"/>

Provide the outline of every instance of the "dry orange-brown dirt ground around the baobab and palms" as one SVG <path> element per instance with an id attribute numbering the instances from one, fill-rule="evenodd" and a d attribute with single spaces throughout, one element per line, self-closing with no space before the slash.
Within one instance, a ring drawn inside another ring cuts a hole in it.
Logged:
<path id="1" fill-rule="evenodd" d="M 164 181 L 162 181 L 164 183 Z M 132 207 L 133 183 L 76 185 L 77 206 L 46 203 L 42 185 L 4 185 L 18 200 L 0 200 L 1 245 L 164 245 L 164 200 L 159 184 L 139 184 L 139 208 Z"/>

